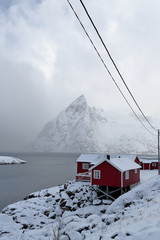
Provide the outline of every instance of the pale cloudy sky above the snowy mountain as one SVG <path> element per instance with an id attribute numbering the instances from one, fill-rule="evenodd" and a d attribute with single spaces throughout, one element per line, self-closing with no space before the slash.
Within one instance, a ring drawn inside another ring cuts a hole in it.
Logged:
<path id="1" fill-rule="evenodd" d="M 80 1 L 70 1 L 130 101 Z M 143 112 L 160 118 L 160 1 L 84 2 Z M 1 151 L 22 149 L 81 94 L 130 113 L 67 0 L 0 0 L 0 26 Z"/>

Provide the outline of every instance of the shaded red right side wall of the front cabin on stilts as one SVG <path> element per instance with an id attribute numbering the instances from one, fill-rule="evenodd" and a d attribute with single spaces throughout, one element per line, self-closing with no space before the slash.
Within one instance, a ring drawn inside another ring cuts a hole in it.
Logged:
<path id="1" fill-rule="evenodd" d="M 131 186 L 132 184 L 140 182 L 140 169 L 129 170 L 129 179 L 125 179 L 125 172 L 123 172 L 123 187 Z"/>

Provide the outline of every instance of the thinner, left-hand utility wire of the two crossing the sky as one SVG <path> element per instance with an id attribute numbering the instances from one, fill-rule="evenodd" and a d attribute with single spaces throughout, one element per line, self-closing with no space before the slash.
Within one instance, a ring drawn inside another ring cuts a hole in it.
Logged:
<path id="1" fill-rule="evenodd" d="M 81 22 L 80 18 L 78 17 L 78 15 L 77 15 L 76 11 L 74 10 L 72 4 L 70 3 L 69 0 L 67 0 L 67 2 L 68 2 L 68 4 L 69 4 L 69 6 L 71 7 L 73 13 L 75 14 L 76 18 L 78 19 L 78 21 L 79 21 L 81 27 L 83 28 L 86 36 L 88 37 L 89 41 L 91 42 L 94 50 L 96 51 L 98 57 L 100 58 L 102 64 L 104 65 L 105 69 L 107 70 L 107 72 L 108 72 L 108 74 L 110 75 L 111 79 L 113 80 L 114 84 L 115 84 L 116 87 L 118 88 L 119 92 L 120 92 L 121 95 L 123 96 L 124 100 L 126 101 L 126 103 L 128 104 L 128 106 L 130 107 L 130 109 L 132 110 L 132 112 L 134 113 L 134 115 L 136 116 L 136 118 L 138 119 L 138 121 L 143 125 L 143 127 L 144 127 L 150 134 L 154 135 L 154 134 L 144 125 L 144 123 L 141 121 L 141 119 L 139 118 L 139 116 L 136 114 L 136 112 L 134 111 L 134 109 L 132 108 L 132 106 L 130 105 L 130 103 L 128 102 L 127 98 L 126 98 L 125 95 L 123 94 L 122 90 L 121 90 L 120 87 L 118 86 L 117 82 L 115 81 L 114 77 L 112 76 L 111 72 L 109 71 L 107 65 L 105 64 L 103 58 L 101 57 L 99 51 L 97 50 L 95 44 L 93 43 L 91 37 L 89 36 L 87 30 L 85 29 L 83 23 Z M 154 135 L 154 136 L 155 136 L 155 135 Z"/>

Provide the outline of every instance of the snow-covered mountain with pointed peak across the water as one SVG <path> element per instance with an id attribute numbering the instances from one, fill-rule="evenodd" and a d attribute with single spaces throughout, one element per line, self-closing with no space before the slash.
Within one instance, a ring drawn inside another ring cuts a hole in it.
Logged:
<path id="1" fill-rule="evenodd" d="M 44 126 L 29 150 L 146 154 L 156 153 L 156 146 L 156 136 L 134 116 L 90 107 L 82 95 Z"/>

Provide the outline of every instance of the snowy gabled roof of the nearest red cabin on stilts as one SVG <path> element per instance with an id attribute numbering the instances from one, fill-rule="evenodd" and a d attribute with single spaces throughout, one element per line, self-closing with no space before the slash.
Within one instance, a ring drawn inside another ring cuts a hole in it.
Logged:
<path id="1" fill-rule="evenodd" d="M 133 162 L 131 159 L 123 159 L 123 158 L 111 158 L 110 160 L 104 159 L 101 160 L 99 162 L 97 162 L 96 165 L 94 165 L 93 167 L 91 167 L 89 170 L 94 169 L 95 167 L 97 167 L 98 165 L 100 165 L 102 162 L 108 162 L 110 163 L 112 166 L 114 166 L 115 168 L 117 168 L 120 172 L 125 172 L 128 170 L 132 170 L 132 169 L 138 169 L 141 168 L 141 166 L 135 162 Z"/>

